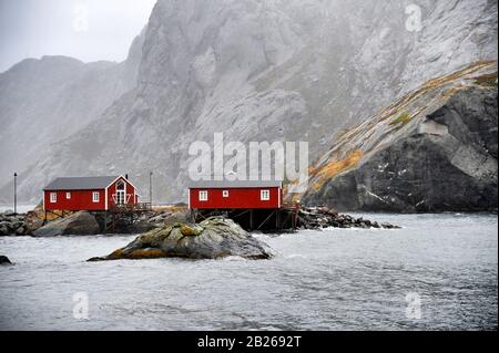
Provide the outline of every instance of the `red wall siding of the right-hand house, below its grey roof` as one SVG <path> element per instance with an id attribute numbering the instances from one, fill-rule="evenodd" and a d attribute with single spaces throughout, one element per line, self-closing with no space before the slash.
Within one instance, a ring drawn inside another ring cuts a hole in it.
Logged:
<path id="1" fill-rule="evenodd" d="M 228 198 L 223 191 L 228 190 Z M 261 190 L 271 191 L 271 200 L 261 200 Z M 200 201 L 200 191 L 208 193 L 207 201 Z M 281 188 L 227 188 L 227 189 L 191 189 L 191 209 L 276 209 L 282 205 Z"/>

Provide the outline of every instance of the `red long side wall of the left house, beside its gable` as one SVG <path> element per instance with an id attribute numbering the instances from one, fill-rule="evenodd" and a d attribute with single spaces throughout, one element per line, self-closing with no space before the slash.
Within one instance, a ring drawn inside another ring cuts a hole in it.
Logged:
<path id="1" fill-rule="evenodd" d="M 99 203 L 92 201 L 92 194 L 99 191 Z M 50 194 L 58 194 L 58 201 L 50 201 Z M 44 207 L 47 210 L 105 210 L 105 191 L 104 190 L 78 190 L 71 193 L 71 199 L 67 199 L 67 191 L 44 191 Z"/>

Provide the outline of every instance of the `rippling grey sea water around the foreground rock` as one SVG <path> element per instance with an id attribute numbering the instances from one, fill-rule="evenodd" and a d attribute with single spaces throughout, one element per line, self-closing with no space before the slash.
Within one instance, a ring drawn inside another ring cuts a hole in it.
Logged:
<path id="1" fill-rule="evenodd" d="M 493 330 L 496 215 L 256 235 L 272 260 L 85 262 L 133 236 L 0 238 L 0 330 Z"/>

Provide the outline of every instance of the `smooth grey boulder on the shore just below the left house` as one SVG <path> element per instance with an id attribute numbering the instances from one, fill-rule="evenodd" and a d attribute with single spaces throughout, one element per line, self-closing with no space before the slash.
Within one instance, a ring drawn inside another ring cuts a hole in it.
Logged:
<path id="1" fill-rule="evenodd" d="M 33 236 L 92 236 L 100 233 L 100 231 L 101 229 L 95 217 L 86 211 L 80 211 L 70 217 L 51 221 L 44 227 L 33 231 Z"/>

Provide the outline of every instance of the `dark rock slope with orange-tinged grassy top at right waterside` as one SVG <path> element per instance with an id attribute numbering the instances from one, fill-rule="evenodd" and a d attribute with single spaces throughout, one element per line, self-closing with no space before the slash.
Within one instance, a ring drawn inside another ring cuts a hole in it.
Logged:
<path id="1" fill-rule="evenodd" d="M 427 82 L 344 132 L 312 170 L 307 204 L 339 210 L 497 209 L 497 62 Z"/>

